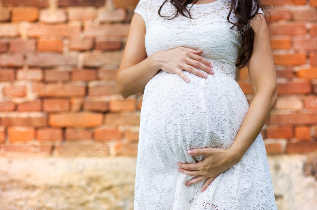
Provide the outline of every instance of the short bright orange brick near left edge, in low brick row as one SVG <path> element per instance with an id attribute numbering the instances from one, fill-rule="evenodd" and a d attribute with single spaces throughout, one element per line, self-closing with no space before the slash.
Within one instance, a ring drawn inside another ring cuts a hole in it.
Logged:
<path id="1" fill-rule="evenodd" d="M 34 127 L 8 127 L 8 139 L 12 141 L 29 141 L 35 137 Z"/>

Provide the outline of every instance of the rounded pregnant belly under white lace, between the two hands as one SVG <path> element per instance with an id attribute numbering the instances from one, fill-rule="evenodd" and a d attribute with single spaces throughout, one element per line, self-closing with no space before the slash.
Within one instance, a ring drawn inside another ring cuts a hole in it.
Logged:
<path id="1" fill-rule="evenodd" d="M 222 73 L 207 79 L 184 72 L 186 83 L 176 74 L 160 71 L 146 85 L 140 122 L 140 144 L 179 162 L 197 162 L 191 148 L 227 149 L 249 107 L 236 81 Z"/>

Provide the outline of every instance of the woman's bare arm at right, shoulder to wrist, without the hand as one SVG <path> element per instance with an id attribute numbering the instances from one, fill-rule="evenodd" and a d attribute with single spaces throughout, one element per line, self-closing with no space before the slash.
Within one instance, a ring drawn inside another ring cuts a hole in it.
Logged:
<path id="1" fill-rule="evenodd" d="M 239 161 L 261 132 L 277 99 L 276 72 L 264 17 L 252 28 L 256 37 L 248 69 L 252 86 L 255 87 L 255 97 L 230 147 Z"/>

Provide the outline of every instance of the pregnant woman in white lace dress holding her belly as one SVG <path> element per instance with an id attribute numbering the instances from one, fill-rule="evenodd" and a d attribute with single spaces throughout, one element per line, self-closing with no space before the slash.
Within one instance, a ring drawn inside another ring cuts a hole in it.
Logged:
<path id="1" fill-rule="evenodd" d="M 277 97 L 263 15 L 258 0 L 139 1 L 116 78 L 124 98 L 144 92 L 135 210 L 277 209 L 260 134 Z"/>

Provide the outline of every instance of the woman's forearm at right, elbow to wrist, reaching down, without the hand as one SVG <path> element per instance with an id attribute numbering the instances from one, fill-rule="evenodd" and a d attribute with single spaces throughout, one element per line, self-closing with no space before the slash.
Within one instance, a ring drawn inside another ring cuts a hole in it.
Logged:
<path id="1" fill-rule="evenodd" d="M 236 138 L 230 146 L 233 157 L 235 157 L 237 162 L 242 159 L 244 153 L 261 132 L 276 102 L 276 98 L 276 91 L 259 91 L 256 93 Z"/>

